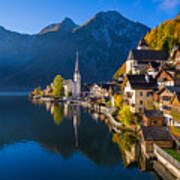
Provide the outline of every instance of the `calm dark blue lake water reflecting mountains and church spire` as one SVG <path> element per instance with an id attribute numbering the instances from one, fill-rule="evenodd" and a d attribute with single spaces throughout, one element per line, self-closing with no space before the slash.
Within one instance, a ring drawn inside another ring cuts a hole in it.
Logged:
<path id="1" fill-rule="evenodd" d="M 124 167 L 108 126 L 78 106 L 39 105 L 24 94 L 0 96 L 1 180 L 151 180 Z"/>

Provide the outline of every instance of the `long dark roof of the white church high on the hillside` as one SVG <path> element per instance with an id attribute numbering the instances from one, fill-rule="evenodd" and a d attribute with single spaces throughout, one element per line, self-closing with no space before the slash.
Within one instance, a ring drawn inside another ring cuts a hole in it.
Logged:
<path id="1" fill-rule="evenodd" d="M 150 60 L 164 60 L 168 59 L 168 54 L 163 50 L 145 50 L 145 49 L 132 49 L 129 52 L 128 60 L 141 60 L 141 61 L 150 61 Z"/>

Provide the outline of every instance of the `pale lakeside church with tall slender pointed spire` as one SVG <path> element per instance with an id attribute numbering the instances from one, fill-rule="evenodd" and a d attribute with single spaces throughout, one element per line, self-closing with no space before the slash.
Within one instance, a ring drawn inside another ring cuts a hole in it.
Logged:
<path id="1" fill-rule="evenodd" d="M 76 52 L 74 79 L 64 80 L 63 83 L 64 83 L 64 91 L 66 97 L 69 97 L 69 94 L 71 94 L 74 99 L 78 99 L 81 96 L 81 74 L 79 70 L 78 51 Z"/>

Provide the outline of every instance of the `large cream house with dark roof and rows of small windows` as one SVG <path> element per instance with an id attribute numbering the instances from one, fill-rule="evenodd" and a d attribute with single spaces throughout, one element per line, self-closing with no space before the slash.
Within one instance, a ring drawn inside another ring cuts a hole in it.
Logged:
<path id="1" fill-rule="evenodd" d="M 132 112 L 143 112 L 146 98 L 156 88 L 156 81 L 147 75 L 127 75 L 124 83 L 124 102 Z"/>

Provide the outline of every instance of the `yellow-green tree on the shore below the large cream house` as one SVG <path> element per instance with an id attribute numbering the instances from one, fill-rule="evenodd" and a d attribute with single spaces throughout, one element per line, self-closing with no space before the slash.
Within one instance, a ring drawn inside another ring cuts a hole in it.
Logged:
<path id="1" fill-rule="evenodd" d="M 119 110 L 120 122 L 125 126 L 132 124 L 133 119 L 135 118 L 134 114 L 130 111 L 130 107 L 127 105 L 122 106 Z"/>

